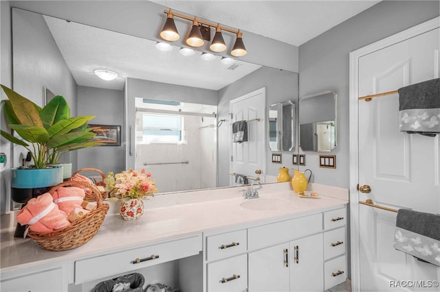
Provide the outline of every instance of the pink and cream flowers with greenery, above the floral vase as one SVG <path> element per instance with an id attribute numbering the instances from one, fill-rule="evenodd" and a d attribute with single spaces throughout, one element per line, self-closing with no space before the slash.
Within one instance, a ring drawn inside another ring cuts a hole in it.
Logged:
<path id="1" fill-rule="evenodd" d="M 155 181 L 151 179 L 151 173 L 145 169 L 135 171 L 129 169 L 114 174 L 109 171 L 104 178 L 105 191 L 110 194 L 110 201 L 143 199 L 157 193 Z"/>

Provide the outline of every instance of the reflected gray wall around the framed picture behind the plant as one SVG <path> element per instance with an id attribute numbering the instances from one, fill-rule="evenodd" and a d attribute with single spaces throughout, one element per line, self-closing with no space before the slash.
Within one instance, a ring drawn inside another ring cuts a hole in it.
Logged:
<path id="1" fill-rule="evenodd" d="M 78 86 L 78 115 L 96 116 L 89 123 L 120 125 L 124 130 L 124 92 Z M 104 173 L 109 171 L 118 173 L 125 169 L 124 166 L 125 143 L 121 143 L 121 146 L 78 149 L 78 169 L 93 167 Z"/>

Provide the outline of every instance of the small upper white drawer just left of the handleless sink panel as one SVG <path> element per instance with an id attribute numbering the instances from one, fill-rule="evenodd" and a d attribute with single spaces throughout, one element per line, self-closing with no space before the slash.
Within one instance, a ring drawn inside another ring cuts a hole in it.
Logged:
<path id="1" fill-rule="evenodd" d="M 237 230 L 206 237 L 206 260 L 218 260 L 246 252 L 246 230 Z"/>

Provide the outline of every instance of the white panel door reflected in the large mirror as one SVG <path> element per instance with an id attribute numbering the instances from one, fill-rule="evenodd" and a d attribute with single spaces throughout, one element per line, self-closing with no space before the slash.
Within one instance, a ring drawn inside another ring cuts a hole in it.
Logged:
<path id="1" fill-rule="evenodd" d="M 265 88 L 255 90 L 230 101 L 232 114 L 230 137 L 232 141 L 232 123 L 248 121 L 248 141 L 243 143 L 231 142 L 230 173 L 241 173 L 256 177 L 256 170 L 261 170 L 261 182 L 264 182 L 265 168 Z M 231 186 L 234 176 L 231 176 Z M 251 183 L 251 181 L 249 182 Z"/>

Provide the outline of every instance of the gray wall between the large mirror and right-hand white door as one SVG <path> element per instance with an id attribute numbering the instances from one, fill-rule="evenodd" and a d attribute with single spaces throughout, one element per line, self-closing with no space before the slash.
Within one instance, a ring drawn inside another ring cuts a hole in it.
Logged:
<path id="1" fill-rule="evenodd" d="M 439 1 L 382 1 L 300 46 L 300 97 L 332 90 L 338 94 L 336 169 L 319 167 L 306 152 L 314 182 L 349 188 L 349 53 L 439 16 Z M 299 112 L 301 114 L 301 112 Z"/>

